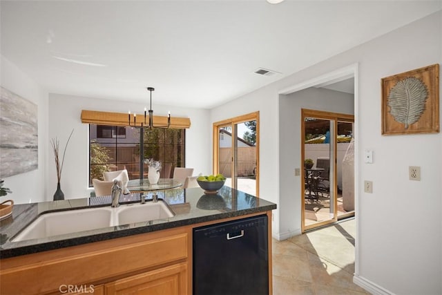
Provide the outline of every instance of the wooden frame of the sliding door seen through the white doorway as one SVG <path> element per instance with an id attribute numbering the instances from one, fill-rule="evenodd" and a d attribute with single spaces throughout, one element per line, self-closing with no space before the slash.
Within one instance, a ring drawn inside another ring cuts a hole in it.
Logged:
<path id="1" fill-rule="evenodd" d="M 309 229 L 314 229 L 316 227 L 322 227 L 324 225 L 329 225 L 334 222 L 338 221 L 338 198 L 337 198 L 337 192 L 338 192 L 338 140 L 336 133 L 338 132 L 338 122 L 352 122 L 354 123 L 354 115 L 348 115 L 343 113 L 332 113 L 327 111 L 316 111 L 316 110 L 310 110 L 307 108 L 301 108 L 301 158 L 300 158 L 300 175 L 305 175 L 304 170 L 304 159 L 305 159 L 305 118 L 306 117 L 314 117 L 321 120 L 330 120 L 333 122 L 333 134 L 330 134 L 330 138 L 334 138 L 333 141 L 333 163 L 331 166 L 333 166 L 333 171 L 330 171 L 330 173 L 333 173 L 333 183 L 330 183 L 333 188 L 331 190 L 334 191 L 333 195 L 333 218 L 329 220 L 325 220 L 322 222 L 317 222 L 314 225 L 305 225 L 305 181 L 304 178 L 301 178 L 300 180 L 300 187 L 301 187 L 301 229 L 302 233 Z M 355 196 L 356 198 L 356 196 Z M 330 200 L 332 202 L 332 200 Z"/>

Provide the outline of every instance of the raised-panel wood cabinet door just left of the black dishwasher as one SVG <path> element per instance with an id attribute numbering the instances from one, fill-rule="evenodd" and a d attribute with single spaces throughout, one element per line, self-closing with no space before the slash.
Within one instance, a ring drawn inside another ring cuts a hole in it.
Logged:
<path id="1" fill-rule="evenodd" d="M 186 294 L 187 265 L 179 263 L 104 285 L 108 294 Z"/>

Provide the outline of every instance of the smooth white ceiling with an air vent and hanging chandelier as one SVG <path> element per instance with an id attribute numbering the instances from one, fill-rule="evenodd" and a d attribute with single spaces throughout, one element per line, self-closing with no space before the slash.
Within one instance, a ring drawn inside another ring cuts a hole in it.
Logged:
<path id="1" fill-rule="evenodd" d="M 1 55 L 49 93 L 212 108 L 441 3 L 1 1 Z"/>

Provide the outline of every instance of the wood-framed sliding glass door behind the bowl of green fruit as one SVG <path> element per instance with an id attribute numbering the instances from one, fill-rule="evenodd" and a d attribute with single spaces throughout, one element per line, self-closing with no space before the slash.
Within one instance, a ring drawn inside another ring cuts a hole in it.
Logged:
<path id="1" fill-rule="evenodd" d="M 213 173 L 229 187 L 258 196 L 259 113 L 213 124 Z"/>

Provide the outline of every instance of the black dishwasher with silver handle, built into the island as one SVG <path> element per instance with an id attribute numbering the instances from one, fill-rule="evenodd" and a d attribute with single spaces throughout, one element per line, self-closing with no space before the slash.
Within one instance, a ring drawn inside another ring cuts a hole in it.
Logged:
<path id="1" fill-rule="evenodd" d="M 193 294 L 269 294 L 267 215 L 193 229 Z"/>

